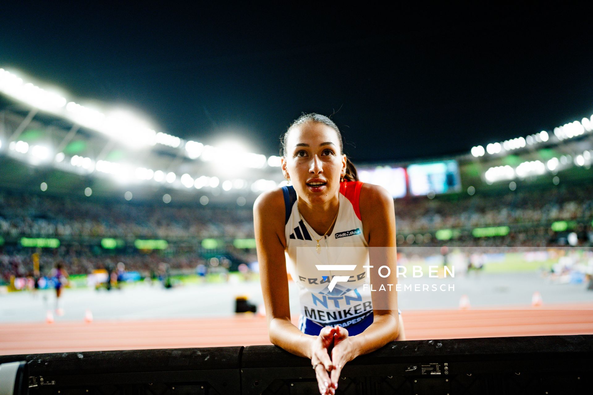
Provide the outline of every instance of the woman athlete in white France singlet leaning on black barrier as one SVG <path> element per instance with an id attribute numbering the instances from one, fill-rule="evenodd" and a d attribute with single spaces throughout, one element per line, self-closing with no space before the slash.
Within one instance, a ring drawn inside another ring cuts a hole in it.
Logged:
<path id="1" fill-rule="evenodd" d="M 292 186 L 264 192 L 253 207 L 270 341 L 311 359 L 321 394 L 334 394 L 346 362 L 404 340 L 395 288 L 371 292 L 361 286 L 397 283 L 393 197 L 378 185 L 358 181 L 342 147 L 342 135 L 328 117 L 299 117 L 282 138 L 282 171 Z M 366 256 L 350 249 L 357 246 Z M 369 253 L 366 247 L 375 249 Z M 315 266 L 335 263 L 331 256 L 336 255 L 355 263 L 355 271 Z M 299 286 L 299 327 L 291 323 L 287 263 Z M 373 269 L 362 268 L 369 263 Z M 380 277 L 380 266 L 388 266 L 391 274 Z M 330 289 L 337 274 L 348 281 Z"/>

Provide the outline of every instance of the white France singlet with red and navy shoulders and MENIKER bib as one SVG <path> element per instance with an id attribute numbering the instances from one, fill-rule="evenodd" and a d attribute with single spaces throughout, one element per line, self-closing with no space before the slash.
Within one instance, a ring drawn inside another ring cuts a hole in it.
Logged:
<path id="1" fill-rule="evenodd" d="M 340 183 L 340 209 L 330 235 L 317 235 L 313 227 L 301 221 L 297 204 L 297 194 L 292 186 L 283 187 L 286 207 L 286 266 L 292 280 L 299 287 L 301 317 L 311 320 L 321 327 L 340 325 L 347 327 L 361 322 L 372 314 L 370 287 L 366 270 L 368 265 L 368 244 L 362 232 L 359 210 L 361 181 Z M 317 242 L 320 239 L 320 253 Z M 356 265 L 352 271 L 318 270 L 315 265 Z M 349 276 L 347 282 L 337 282 L 329 290 L 331 278 Z"/>

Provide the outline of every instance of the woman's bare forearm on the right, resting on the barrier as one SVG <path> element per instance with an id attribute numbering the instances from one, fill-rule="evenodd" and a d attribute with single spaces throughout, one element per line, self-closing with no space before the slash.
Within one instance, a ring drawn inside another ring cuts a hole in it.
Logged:
<path id="1" fill-rule="evenodd" d="M 381 314 L 373 318 L 373 323 L 362 333 L 352 336 L 358 355 L 368 354 L 389 342 L 397 339 L 399 334 L 399 317 L 391 314 Z"/>

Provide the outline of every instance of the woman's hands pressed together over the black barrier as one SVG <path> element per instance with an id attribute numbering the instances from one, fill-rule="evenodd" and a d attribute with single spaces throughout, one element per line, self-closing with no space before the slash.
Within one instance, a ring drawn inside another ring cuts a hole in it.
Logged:
<path id="1" fill-rule="evenodd" d="M 346 362 L 356 358 L 356 347 L 348 330 L 336 325 L 321 329 L 311 345 L 311 364 L 322 395 L 336 393 L 340 372 Z"/>

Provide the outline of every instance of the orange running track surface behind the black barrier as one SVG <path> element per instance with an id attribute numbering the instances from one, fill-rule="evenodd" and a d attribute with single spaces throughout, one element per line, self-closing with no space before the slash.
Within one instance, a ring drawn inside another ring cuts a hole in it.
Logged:
<path id="1" fill-rule="evenodd" d="M 553 309 L 553 310 L 551 310 Z M 407 340 L 591 335 L 593 304 L 522 310 L 417 310 L 402 313 Z M 297 323 L 298 317 L 292 317 Z M 270 344 L 266 319 L 11 323 L 0 325 L 0 355 L 44 352 Z"/>

